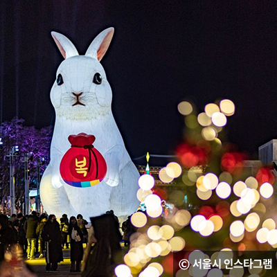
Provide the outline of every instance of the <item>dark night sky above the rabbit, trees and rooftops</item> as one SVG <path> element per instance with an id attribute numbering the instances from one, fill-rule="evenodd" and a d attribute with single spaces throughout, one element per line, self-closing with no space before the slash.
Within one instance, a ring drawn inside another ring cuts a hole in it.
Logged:
<path id="1" fill-rule="evenodd" d="M 101 63 L 132 158 L 173 154 L 191 100 L 198 111 L 233 100 L 229 140 L 251 157 L 277 139 L 276 1 L 1 1 L 1 120 L 53 125 L 49 93 L 63 57 L 51 31 L 83 55 L 115 28 Z"/>

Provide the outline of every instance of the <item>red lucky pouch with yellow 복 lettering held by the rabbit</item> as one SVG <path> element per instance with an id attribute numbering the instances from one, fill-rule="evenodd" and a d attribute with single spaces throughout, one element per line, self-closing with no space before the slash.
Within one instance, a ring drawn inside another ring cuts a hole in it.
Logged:
<path id="1" fill-rule="evenodd" d="M 107 164 L 102 154 L 92 145 L 95 139 L 95 136 L 85 133 L 69 136 L 71 148 L 60 163 L 60 175 L 66 184 L 87 188 L 105 178 Z"/>

